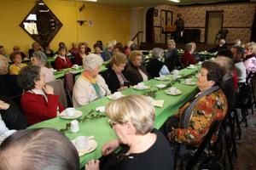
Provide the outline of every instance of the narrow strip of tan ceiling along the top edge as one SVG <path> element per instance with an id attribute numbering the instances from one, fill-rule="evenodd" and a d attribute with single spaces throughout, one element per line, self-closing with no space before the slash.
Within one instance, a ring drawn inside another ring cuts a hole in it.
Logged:
<path id="1" fill-rule="evenodd" d="M 86 2 L 87 0 L 73 0 Z M 180 0 L 181 3 L 172 3 L 169 0 L 97 0 L 97 3 L 125 6 L 125 7 L 144 7 L 154 5 L 191 5 L 205 3 L 234 3 L 234 2 L 256 2 L 256 0 Z"/>

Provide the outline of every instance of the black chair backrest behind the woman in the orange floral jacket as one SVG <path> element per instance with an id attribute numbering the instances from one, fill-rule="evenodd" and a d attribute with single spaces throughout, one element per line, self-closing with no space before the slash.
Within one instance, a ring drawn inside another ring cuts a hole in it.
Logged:
<path id="1" fill-rule="evenodd" d="M 209 147 L 212 146 L 212 136 L 213 136 L 213 134 L 218 133 L 219 127 L 220 127 L 220 122 L 218 122 L 218 121 L 212 122 L 212 125 L 211 125 L 207 135 L 205 136 L 205 138 L 201 142 L 198 149 L 195 151 L 195 154 L 189 159 L 189 161 L 187 163 L 187 166 L 186 166 L 186 170 L 193 169 L 193 167 L 199 161 L 199 158 L 200 158 L 201 154 L 203 153 L 203 151 L 208 146 Z"/>

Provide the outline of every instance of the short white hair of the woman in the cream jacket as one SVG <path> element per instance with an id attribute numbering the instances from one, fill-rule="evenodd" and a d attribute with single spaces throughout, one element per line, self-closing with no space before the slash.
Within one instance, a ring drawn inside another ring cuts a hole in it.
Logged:
<path id="1" fill-rule="evenodd" d="M 97 54 L 86 55 L 83 59 L 84 70 L 93 70 L 103 64 L 103 59 Z"/>

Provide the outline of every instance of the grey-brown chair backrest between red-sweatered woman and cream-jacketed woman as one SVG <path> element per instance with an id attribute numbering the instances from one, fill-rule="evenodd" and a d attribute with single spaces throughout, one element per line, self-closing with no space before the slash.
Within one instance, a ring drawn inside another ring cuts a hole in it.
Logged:
<path id="1" fill-rule="evenodd" d="M 46 84 L 54 88 L 54 94 L 60 96 L 59 101 L 65 108 L 67 108 L 67 95 L 62 80 L 57 79 L 53 82 L 47 82 Z"/>

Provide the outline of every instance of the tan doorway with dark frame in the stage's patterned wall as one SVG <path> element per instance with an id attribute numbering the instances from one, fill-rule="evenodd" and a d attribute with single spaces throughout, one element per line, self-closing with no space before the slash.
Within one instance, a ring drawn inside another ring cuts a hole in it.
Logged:
<path id="1" fill-rule="evenodd" d="M 223 26 L 223 14 L 224 11 L 207 11 L 205 42 L 208 44 L 215 44 L 216 35 Z"/>

